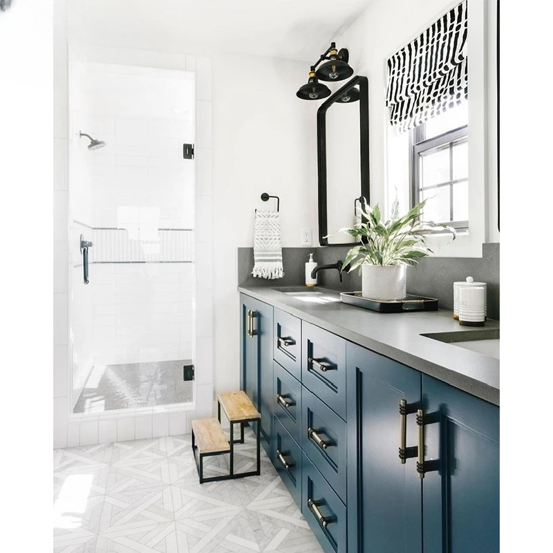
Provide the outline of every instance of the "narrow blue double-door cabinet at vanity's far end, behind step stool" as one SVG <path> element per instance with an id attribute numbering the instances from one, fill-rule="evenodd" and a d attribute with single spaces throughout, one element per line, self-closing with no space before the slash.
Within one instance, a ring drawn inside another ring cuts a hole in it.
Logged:
<path id="1" fill-rule="evenodd" d="M 241 389 L 261 413 L 261 444 L 270 456 L 272 436 L 273 308 L 240 294 Z M 255 423 L 253 423 L 255 424 Z"/>

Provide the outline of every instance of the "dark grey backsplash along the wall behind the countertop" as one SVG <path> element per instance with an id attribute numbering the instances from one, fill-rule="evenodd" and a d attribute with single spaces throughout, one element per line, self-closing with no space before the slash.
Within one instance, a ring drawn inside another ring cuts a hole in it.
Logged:
<path id="1" fill-rule="evenodd" d="M 284 278 L 254 279 L 254 249 L 238 248 L 238 285 L 241 286 L 293 286 L 305 283 L 305 265 L 309 254 L 315 254 L 319 265 L 344 261 L 349 246 L 337 247 L 283 247 Z M 337 270 L 321 271 L 319 285 L 349 292 L 361 290 L 361 277 L 357 270 L 343 273 L 340 282 Z M 438 298 L 440 308 L 453 310 L 453 282 L 474 277 L 487 283 L 487 310 L 490 319 L 499 319 L 499 243 L 482 245 L 482 257 L 427 257 L 415 268 L 407 270 L 407 292 Z"/>

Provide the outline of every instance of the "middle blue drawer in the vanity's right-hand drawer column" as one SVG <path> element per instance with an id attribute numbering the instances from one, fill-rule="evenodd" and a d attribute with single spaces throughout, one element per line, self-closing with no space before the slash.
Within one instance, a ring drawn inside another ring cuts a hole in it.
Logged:
<path id="1" fill-rule="evenodd" d="M 346 423 L 301 387 L 301 448 L 346 502 Z"/>

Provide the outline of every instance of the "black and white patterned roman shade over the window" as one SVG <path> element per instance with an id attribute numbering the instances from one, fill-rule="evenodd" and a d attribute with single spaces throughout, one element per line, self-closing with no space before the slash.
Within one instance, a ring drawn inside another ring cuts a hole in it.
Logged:
<path id="1" fill-rule="evenodd" d="M 465 0 L 388 59 L 386 106 L 391 124 L 405 131 L 465 102 L 468 94 Z"/>

